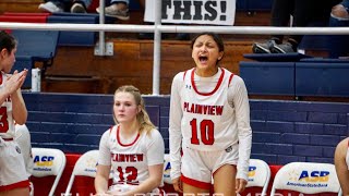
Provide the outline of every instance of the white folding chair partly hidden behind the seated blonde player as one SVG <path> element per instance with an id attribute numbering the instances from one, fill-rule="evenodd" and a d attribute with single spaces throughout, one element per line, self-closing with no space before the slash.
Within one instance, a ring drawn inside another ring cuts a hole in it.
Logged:
<path id="1" fill-rule="evenodd" d="M 70 195 L 76 175 L 89 177 L 96 176 L 98 155 L 98 150 L 89 150 L 77 159 L 73 169 L 73 173 L 69 180 L 65 195 Z M 112 179 L 112 171 L 110 171 L 109 179 Z"/>

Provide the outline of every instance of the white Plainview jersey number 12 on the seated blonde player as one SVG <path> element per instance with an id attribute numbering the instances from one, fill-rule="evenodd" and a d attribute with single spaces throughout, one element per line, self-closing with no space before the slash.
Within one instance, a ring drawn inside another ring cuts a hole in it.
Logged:
<path id="1" fill-rule="evenodd" d="M 120 126 L 113 126 L 108 140 L 111 154 L 111 166 L 115 172 L 113 184 L 139 185 L 149 176 L 147 148 L 149 144 L 159 139 L 157 137 L 160 137 L 160 134 L 158 133 L 157 135 L 156 131 L 152 131 L 151 135 L 142 133 L 139 134 L 132 143 L 123 144 L 119 131 Z M 160 160 L 151 161 L 163 163 L 164 152 L 157 151 L 156 154 L 161 155 Z"/>

